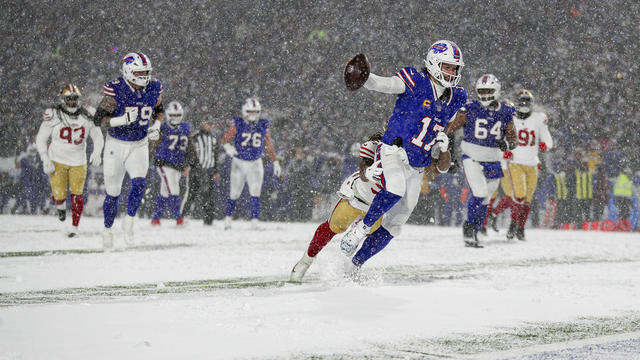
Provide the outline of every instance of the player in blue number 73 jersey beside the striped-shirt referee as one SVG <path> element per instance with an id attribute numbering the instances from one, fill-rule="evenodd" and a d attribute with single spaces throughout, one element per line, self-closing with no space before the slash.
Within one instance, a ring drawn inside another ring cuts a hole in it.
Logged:
<path id="1" fill-rule="evenodd" d="M 191 134 L 191 124 L 183 122 L 184 109 L 177 101 L 172 101 L 165 110 L 167 121 L 160 126 L 160 144 L 156 148 L 153 164 L 160 175 L 160 194 L 151 220 L 152 225 L 160 225 L 165 206 L 176 225 L 184 223 L 180 214 L 180 176 L 186 176 L 186 155 Z"/>

